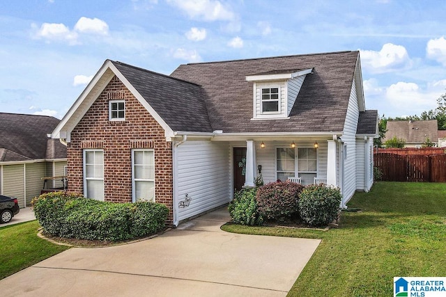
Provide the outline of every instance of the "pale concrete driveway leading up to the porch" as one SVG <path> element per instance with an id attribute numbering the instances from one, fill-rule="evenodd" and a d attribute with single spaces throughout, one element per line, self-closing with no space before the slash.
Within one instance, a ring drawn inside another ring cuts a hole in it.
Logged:
<path id="1" fill-rule="evenodd" d="M 71 248 L 0 280 L 1 296 L 286 296 L 319 240 L 231 234 L 214 211 L 153 239 Z"/>

